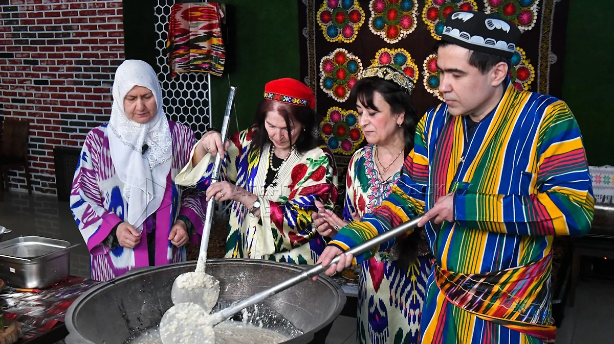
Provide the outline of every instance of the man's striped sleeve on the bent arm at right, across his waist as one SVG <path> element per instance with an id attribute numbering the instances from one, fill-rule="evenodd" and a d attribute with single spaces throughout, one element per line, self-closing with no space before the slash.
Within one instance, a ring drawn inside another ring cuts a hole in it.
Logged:
<path id="1" fill-rule="evenodd" d="M 454 217 L 462 226 L 502 233 L 582 236 L 594 214 L 593 185 L 580 128 L 564 102 L 550 105 L 537 137 L 534 192 L 493 195 L 459 190 Z M 527 173 L 528 174 L 528 173 Z"/>

